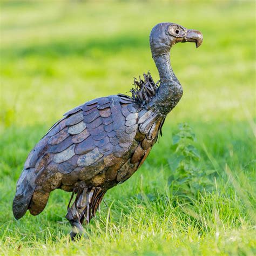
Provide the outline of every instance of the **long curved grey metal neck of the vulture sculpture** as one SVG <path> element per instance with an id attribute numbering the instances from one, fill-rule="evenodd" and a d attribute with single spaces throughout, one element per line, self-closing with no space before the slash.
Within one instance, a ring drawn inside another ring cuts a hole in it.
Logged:
<path id="1" fill-rule="evenodd" d="M 171 68 L 170 53 L 153 56 L 153 59 L 161 81 L 156 96 L 153 99 L 154 105 L 159 109 L 160 113 L 166 115 L 179 102 L 183 89 Z"/>

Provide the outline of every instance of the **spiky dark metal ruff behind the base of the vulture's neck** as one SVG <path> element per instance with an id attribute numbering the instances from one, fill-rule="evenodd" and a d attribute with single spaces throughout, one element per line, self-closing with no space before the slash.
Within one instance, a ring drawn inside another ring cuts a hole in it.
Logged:
<path id="1" fill-rule="evenodd" d="M 132 88 L 130 92 L 132 93 L 132 99 L 144 105 L 148 103 L 154 95 L 156 95 L 160 80 L 158 80 L 157 83 L 154 83 L 150 72 L 147 72 L 147 74 L 144 73 L 143 77 L 144 80 L 140 78 L 140 76 L 139 80 L 137 78 L 134 78 L 133 85 L 135 86 L 135 88 Z"/>

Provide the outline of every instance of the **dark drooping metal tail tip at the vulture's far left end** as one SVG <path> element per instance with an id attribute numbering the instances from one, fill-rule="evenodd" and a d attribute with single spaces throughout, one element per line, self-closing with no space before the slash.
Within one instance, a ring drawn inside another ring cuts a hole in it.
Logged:
<path id="1" fill-rule="evenodd" d="M 16 194 L 12 203 L 12 212 L 14 213 L 15 219 L 20 219 L 28 210 L 30 200 L 35 191 L 35 169 L 28 168 L 23 169 L 21 177 L 17 182 Z"/>

